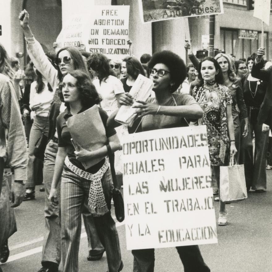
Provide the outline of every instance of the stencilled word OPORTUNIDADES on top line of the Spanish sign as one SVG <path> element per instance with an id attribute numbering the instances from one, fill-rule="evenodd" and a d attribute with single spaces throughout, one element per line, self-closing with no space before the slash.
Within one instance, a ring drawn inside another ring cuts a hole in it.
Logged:
<path id="1" fill-rule="evenodd" d="M 207 134 L 170 136 L 165 138 L 140 140 L 123 144 L 123 155 L 133 155 L 153 151 L 207 146 Z"/>

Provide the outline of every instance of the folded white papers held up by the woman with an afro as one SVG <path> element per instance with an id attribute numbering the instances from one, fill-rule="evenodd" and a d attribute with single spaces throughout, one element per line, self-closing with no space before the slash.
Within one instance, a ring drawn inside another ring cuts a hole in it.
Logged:
<path id="1" fill-rule="evenodd" d="M 139 74 L 129 92 L 134 99 L 133 105 L 139 104 L 135 102 L 136 100 L 146 101 L 147 98 L 151 95 L 152 87 L 153 81 Z M 115 117 L 115 120 L 122 125 L 127 125 L 131 127 L 135 118 L 137 117 L 137 114 L 135 113 L 137 111 L 137 108 L 132 108 L 133 105 L 122 105 Z"/>

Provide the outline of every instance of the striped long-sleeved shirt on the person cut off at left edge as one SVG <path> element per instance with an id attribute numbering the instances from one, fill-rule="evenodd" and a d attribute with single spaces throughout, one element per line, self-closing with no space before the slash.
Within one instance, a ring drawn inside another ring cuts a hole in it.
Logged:
<path id="1" fill-rule="evenodd" d="M 14 87 L 0 74 L 0 157 L 14 170 L 15 180 L 27 180 L 27 143 Z"/>

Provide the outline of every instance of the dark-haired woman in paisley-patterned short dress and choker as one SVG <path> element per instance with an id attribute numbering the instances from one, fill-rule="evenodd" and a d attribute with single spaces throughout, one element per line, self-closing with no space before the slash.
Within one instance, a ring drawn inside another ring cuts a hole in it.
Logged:
<path id="1" fill-rule="evenodd" d="M 191 93 L 204 111 L 197 124 L 207 126 L 210 164 L 220 195 L 220 166 L 227 165 L 229 155 L 237 152 L 232 120 L 232 96 L 223 85 L 223 73 L 214 58 L 206 57 L 199 63 L 198 79 L 192 84 Z M 227 211 L 221 200 L 218 225 L 227 225 Z"/>

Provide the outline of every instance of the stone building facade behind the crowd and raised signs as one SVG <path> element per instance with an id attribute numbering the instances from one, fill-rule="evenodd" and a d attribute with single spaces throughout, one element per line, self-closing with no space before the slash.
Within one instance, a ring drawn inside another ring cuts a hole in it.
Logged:
<path id="1" fill-rule="evenodd" d="M 64 19 L 71 14 L 80 14 L 93 5 L 110 5 L 111 0 L 0 0 L 0 42 L 11 56 L 23 52 L 21 64 L 26 64 L 26 48 L 23 32 L 18 19 L 24 8 L 30 14 L 30 25 L 34 36 L 45 50 L 53 50 L 53 42 L 62 29 Z M 5 2 L 5 3 L 4 3 Z M 152 54 L 168 49 L 186 59 L 185 32 L 182 19 L 173 19 L 143 24 L 140 20 L 138 1 L 117 0 L 118 5 L 130 5 L 129 37 L 132 40 L 132 53 L 140 57 L 143 53 Z M 248 11 L 246 0 L 224 0 L 224 13 L 215 15 L 214 48 L 233 54 L 236 59 L 247 58 L 257 52 L 261 45 L 261 21 Z M 271 17 L 271 15 L 270 15 Z M 189 28 L 193 52 L 207 46 L 210 34 L 208 17 L 190 17 Z M 272 58 L 272 20 L 270 26 L 264 26 L 264 46 L 266 58 Z"/>

